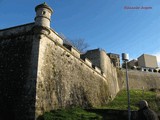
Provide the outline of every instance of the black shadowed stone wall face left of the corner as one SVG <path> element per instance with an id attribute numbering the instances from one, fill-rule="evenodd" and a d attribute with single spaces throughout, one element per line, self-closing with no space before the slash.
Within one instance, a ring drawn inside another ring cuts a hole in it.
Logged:
<path id="1" fill-rule="evenodd" d="M 0 119 L 33 120 L 35 79 L 29 79 L 32 35 L 0 38 Z"/>

